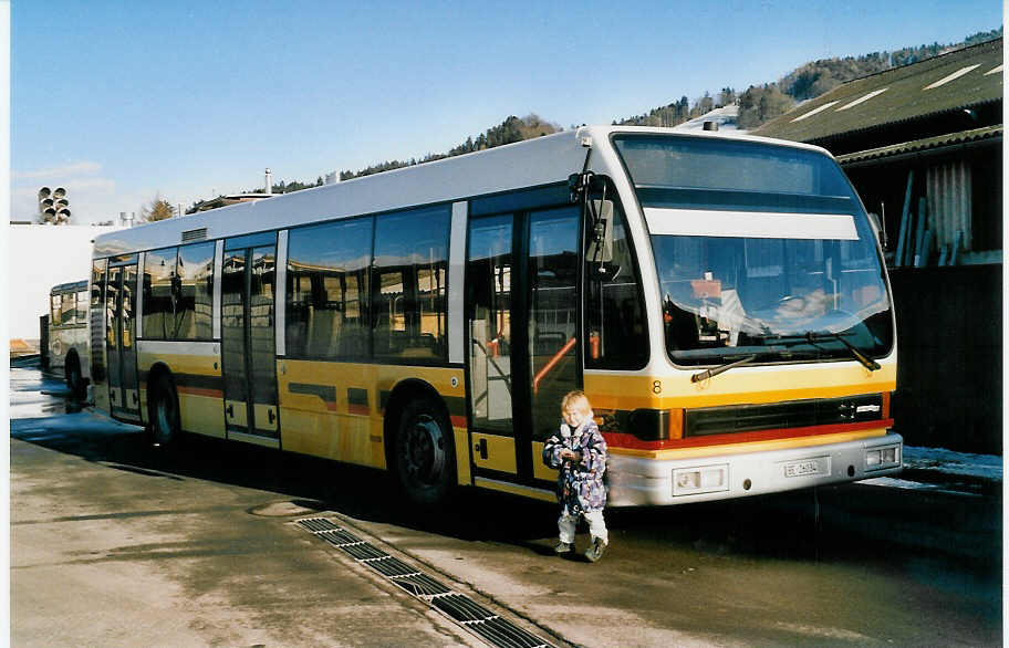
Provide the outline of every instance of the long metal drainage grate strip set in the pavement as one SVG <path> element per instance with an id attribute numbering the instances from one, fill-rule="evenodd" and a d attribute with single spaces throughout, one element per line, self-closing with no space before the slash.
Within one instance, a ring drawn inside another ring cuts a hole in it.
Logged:
<path id="1" fill-rule="evenodd" d="M 501 648 L 553 648 L 535 635 L 503 619 L 464 594 L 453 592 L 443 583 L 418 572 L 399 558 L 393 557 L 364 542 L 326 518 L 305 518 L 298 524 L 339 547 L 363 565 L 378 572 L 406 592 L 423 599 L 450 619 Z"/>

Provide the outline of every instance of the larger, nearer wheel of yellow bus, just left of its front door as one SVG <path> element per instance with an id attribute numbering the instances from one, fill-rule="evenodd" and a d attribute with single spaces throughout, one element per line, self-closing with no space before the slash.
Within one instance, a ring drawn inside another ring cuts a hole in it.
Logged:
<path id="1" fill-rule="evenodd" d="M 395 470 L 404 494 L 416 504 L 443 502 L 456 475 L 451 426 L 430 398 L 410 401 L 399 418 Z"/>

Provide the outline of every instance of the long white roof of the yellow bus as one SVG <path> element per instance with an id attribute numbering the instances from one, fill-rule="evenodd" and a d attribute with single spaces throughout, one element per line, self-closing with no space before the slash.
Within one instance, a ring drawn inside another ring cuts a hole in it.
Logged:
<path id="1" fill-rule="evenodd" d="M 569 175 L 582 170 L 586 154 L 582 146 L 584 137 L 591 137 L 593 148 L 606 148 L 613 133 L 747 139 L 815 149 L 830 155 L 819 147 L 738 132 L 685 133 L 645 126 L 582 126 L 535 139 L 302 189 L 269 200 L 231 205 L 103 233 L 95 238 L 94 255 L 104 258 L 126 254 L 183 242 L 220 239 L 563 182 Z M 603 163 L 600 158 L 601 156 L 593 156 L 591 168 L 601 170 L 600 165 Z"/>

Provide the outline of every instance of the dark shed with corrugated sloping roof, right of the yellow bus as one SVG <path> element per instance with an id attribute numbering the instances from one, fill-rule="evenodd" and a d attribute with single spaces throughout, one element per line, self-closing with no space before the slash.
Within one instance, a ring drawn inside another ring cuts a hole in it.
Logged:
<path id="1" fill-rule="evenodd" d="M 880 215 L 909 445 L 1001 452 L 1002 39 L 850 81 L 753 132 L 823 146 Z"/>

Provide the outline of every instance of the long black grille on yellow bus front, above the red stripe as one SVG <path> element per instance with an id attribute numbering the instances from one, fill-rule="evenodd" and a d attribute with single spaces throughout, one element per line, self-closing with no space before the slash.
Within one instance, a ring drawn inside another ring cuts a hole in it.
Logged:
<path id="1" fill-rule="evenodd" d="M 883 419 L 883 395 L 688 409 L 684 437 L 805 428 Z"/>

